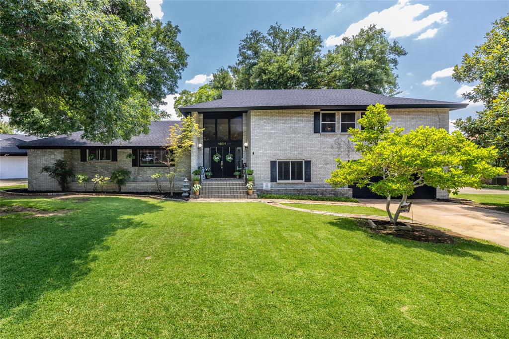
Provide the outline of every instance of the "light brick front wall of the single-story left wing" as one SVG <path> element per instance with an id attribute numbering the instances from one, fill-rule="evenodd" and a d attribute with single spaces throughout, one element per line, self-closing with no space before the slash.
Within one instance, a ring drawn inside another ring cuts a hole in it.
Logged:
<path id="1" fill-rule="evenodd" d="M 80 161 L 79 150 L 28 150 L 28 181 L 29 190 L 60 190 L 56 180 L 49 178 L 45 173 L 40 173 L 43 166 L 51 165 L 58 159 L 65 159 L 72 168 L 74 175 L 86 174 L 92 179 L 96 174 L 110 177 L 111 173 L 118 167 L 126 168 L 131 172 L 131 179 L 123 191 L 129 192 L 155 192 L 157 191 L 154 180 L 151 175 L 161 172 L 167 172 L 166 167 L 133 167 L 132 160 L 128 159 L 127 154 L 130 149 L 119 149 L 117 151 L 118 161 Z M 190 180 L 191 157 L 187 157 L 181 165 L 182 171 L 177 175 L 175 190 L 180 191 L 184 178 Z M 163 189 L 169 190 L 169 183 L 165 177 L 162 178 Z M 92 190 L 94 184 L 88 182 L 86 188 L 77 183 L 74 178 L 69 184 L 69 190 L 83 191 Z M 106 186 L 108 191 L 117 191 L 118 187 L 114 183 Z"/>

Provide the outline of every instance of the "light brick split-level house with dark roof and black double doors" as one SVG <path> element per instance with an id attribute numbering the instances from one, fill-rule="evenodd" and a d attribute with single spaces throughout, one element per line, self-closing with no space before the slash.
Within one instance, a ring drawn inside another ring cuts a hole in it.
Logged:
<path id="1" fill-rule="evenodd" d="M 189 178 L 198 166 L 209 167 L 214 178 L 229 178 L 236 167 L 246 163 L 254 170 L 258 192 L 373 197 L 367 189 L 333 189 L 325 179 L 336 168 L 335 158 L 358 158 L 348 140 L 348 129 L 359 127 L 357 120 L 375 103 L 387 107 L 391 125 L 407 131 L 422 125 L 448 129 L 449 110 L 467 106 L 363 90 L 223 91 L 221 99 L 179 108 L 204 128 L 179 180 Z M 54 180 L 40 174 L 40 168 L 65 158 L 75 173 L 90 176 L 109 175 L 118 166 L 129 168 L 133 180 L 126 191 L 154 191 L 150 175 L 164 171 L 155 166 L 165 156 L 160 147 L 170 123 L 174 122 L 153 122 L 148 135 L 134 137 L 129 143 L 89 143 L 80 138 L 80 132 L 24 143 L 20 147 L 29 149 L 29 182 L 33 189 L 58 189 Z M 135 159 L 126 159 L 128 153 Z M 71 188 L 80 189 L 75 183 Z M 447 192 L 424 187 L 414 198 L 446 196 Z"/>

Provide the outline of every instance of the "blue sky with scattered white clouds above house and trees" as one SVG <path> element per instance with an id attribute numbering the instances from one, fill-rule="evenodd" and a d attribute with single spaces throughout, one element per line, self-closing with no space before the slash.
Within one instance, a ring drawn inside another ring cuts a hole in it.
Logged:
<path id="1" fill-rule="evenodd" d="M 482 44 L 491 23 L 509 12 L 506 1 L 170 1 L 147 0 L 154 16 L 182 30 L 180 42 L 189 54 L 179 91 L 195 90 L 220 66 L 233 65 L 238 44 L 250 30 L 266 32 L 276 21 L 285 28 L 316 29 L 324 51 L 376 23 L 398 40 L 408 55 L 400 58 L 401 96 L 463 101 L 451 67 Z M 463 86 L 463 87 L 462 87 Z M 172 99 L 168 98 L 168 106 Z M 479 105 L 451 112 L 450 119 L 474 114 Z M 169 109 L 168 110 L 172 110 Z"/>

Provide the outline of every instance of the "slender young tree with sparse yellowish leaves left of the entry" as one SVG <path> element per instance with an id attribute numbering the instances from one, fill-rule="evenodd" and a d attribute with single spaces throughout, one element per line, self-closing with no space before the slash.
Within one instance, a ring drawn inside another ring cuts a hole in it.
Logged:
<path id="1" fill-rule="evenodd" d="M 168 154 L 162 162 L 168 166 L 166 177 L 169 181 L 171 195 L 175 190 L 175 178 L 183 170 L 182 162 L 189 156 L 194 140 L 200 136 L 202 131 L 203 128 L 200 128 L 191 115 L 182 118 L 180 124 L 169 127 L 169 136 L 166 138 L 165 146 Z"/>

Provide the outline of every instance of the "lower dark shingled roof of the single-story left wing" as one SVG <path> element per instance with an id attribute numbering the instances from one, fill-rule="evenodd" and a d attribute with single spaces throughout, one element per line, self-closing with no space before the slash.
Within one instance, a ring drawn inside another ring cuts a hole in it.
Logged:
<path id="1" fill-rule="evenodd" d="M 93 143 L 81 138 L 82 131 L 71 133 L 71 135 L 62 134 L 37 139 L 30 142 L 24 142 L 18 145 L 21 149 L 41 149 L 41 148 L 85 148 L 85 147 L 160 147 L 166 144 L 169 126 L 179 124 L 180 120 L 153 121 L 150 124 L 149 134 L 140 134 L 133 136 L 130 141 L 114 140 L 109 144 Z"/>

